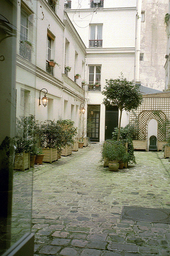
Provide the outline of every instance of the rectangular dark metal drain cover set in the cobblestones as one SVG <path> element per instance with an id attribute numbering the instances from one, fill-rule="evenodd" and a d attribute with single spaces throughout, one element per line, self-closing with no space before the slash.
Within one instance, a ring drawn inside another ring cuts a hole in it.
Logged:
<path id="1" fill-rule="evenodd" d="M 123 206 L 120 219 L 170 224 L 170 209 Z"/>

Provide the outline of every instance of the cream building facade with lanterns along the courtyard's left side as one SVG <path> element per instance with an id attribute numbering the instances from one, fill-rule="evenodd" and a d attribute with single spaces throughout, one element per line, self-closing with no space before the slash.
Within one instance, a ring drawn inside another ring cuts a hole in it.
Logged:
<path id="1" fill-rule="evenodd" d="M 40 122 L 71 119 L 81 136 L 79 109 L 84 102 L 81 79 L 84 78 L 86 47 L 64 14 L 64 0 L 57 6 L 51 0 L 21 1 L 18 17 L 17 117 L 33 114 Z M 32 50 L 24 41 L 31 43 Z M 50 59 L 59 66 L 51 68 Z M 66 66 L 71 67 L 68 73 Z M 76 73 L 82 78 L 75 80 Z M 42 102 L 39 105 L 43 88 L 48 91 L 45 108 Z"/>

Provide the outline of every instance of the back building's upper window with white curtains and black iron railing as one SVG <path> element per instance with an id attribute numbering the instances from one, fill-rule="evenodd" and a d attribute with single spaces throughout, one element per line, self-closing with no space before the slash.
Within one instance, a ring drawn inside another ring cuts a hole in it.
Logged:
<path id="1" fill-rule="evenodd" d="M 90 25 L 89 47 L 102 47 L 103 25 Z"/>

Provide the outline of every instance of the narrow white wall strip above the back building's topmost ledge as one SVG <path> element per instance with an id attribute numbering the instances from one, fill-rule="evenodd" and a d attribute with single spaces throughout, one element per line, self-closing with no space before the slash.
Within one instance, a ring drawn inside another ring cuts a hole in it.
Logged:
<path id="1" fill-rule="evenodd" d="M 90 1 L 82 0 L 80 5 L 79 5 L 79 2 L 78 2 L 78 0 L 72 0 L 71 8 L 72 9 L 90 8 Z M 104 8 L 119 8 L 119 7 L 133 7 L 133 6 L 136 6 L 136 0 L 114 0 L 114 1 L 107 0 L 107 1 L 104 1 Z"/>

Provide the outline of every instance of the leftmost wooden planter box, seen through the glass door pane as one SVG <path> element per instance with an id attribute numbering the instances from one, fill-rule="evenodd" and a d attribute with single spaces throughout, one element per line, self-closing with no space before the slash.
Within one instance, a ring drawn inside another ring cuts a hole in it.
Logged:
<path id="1" fill-rule="evenodd" d="M 25 171 L 30 167 L 29 152 L 15 153 L 14 170 Z"/>

